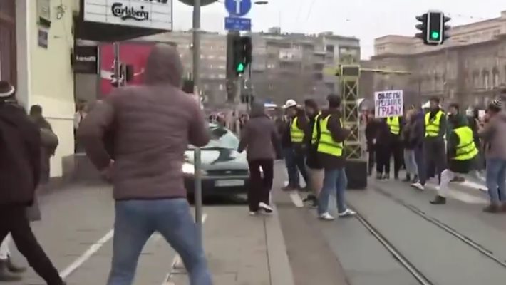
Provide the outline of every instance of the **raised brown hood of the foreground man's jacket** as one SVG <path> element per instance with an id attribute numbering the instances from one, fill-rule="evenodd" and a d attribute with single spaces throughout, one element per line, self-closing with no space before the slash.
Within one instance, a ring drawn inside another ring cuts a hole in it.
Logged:
<path id="1" fill-rule="evenodd" d="M 167 44 L 157 44 L 146 62 L 145 84 L 182 86 L 182 63 L 177 50 Z"/>

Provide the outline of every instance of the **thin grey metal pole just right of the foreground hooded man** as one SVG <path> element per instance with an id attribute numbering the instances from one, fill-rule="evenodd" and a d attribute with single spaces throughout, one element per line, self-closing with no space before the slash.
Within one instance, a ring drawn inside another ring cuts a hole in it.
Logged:
<path id="1" fill-rule="evenodd" d="M 200 0 L 193 4 L 193 93 L 200 104 Z M 195 167 L 195 224 L 202 242 L 202 162 L 200 160 L 200 147 L 194 152 Z"/>

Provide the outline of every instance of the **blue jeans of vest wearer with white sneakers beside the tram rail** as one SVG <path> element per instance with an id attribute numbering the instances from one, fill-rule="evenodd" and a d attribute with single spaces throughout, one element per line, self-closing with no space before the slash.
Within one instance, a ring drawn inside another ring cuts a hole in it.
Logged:
<path id="1" fill-rule="evenodd" d="M 329 212 L 329 199 L 332 192 L 336 193 L 337 212 L 346 211 L 344 203 L 344 192 L 348 185 L 348 177 L 343 168 L 326 169 L 324 177 L 324 187 L 321 189 L 318 197 L 318 214 Z"/>

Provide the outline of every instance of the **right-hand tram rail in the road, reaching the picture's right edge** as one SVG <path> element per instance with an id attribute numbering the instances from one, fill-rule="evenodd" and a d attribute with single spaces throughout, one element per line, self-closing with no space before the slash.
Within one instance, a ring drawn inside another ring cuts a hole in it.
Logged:
<path id="1" fill-rule="evenodd" d="M 495 263 L 499 264 L 503 268 L 506 269 L 506 261 L 496 257 L 492 250 L 487 249 L 482 244 L 479 244 L 478 242 L 475 242 L 470 237 L 466 236 L 465 234 L 458 232 L 458 230 L 454 229 L 453 227 L 450 227 L 448 224 L 445 224 L 444 222 L 441 222 L 439 219 L 436 219 L 435 217 L 430 216 L 429 214 L 423 212 L 418 207 L 415 207 L 413 204 L 408 204 L 403 199 L 399 199 L 398 197 L 393 196 L 391 193 L 386 192 L 385 190 L 382 190 L 380 187 L 372 186 L 372 190 L 378 192 L 379 194 L 383 195 L 384 197 L 387 197 L 388 199 L 391 199 L 393 202 L 396 202 L 396 204 L 401 205 L 402 207 L 408 209 L 409 211 L 413 212 L 414 214 L 418 215 L 418 217 L 421 217 L 425 219 L 425 221 L 429 222 L 430 224 L 435 225 L 436 227 L 443 229 L 443 231 L 447 232 L 448 234 L 453 235 L 453 237 L 456 237 L 464 244 L 467 244 L 469 247 L 475 249 L 477 252 L 480 252 L 483 256 L 487 257 L 488 259 L 494 261 Z"/>

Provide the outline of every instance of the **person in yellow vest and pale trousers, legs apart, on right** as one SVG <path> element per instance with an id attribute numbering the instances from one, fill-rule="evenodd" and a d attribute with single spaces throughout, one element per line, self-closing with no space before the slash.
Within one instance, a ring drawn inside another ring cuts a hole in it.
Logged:
<path id="1" fill-rule="evenodd" d="M 462 121 L 459 121 L 458 117 L 450 118 L 450 123 L 454 128 L 448 135 L 448 168 L 441 173 L 438 195 L 430 201 L 430 204 L 446 204 L 448 184 L 457 173 L 468 173 L 478 155 L 473 130 Z M 443 157 L 440 157 L 440 160 L 443 160 Z"/>

